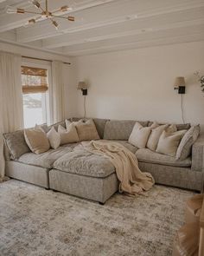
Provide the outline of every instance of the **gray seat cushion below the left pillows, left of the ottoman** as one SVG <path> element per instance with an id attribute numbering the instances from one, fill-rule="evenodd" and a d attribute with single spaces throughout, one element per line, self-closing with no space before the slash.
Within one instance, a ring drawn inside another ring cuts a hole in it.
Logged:
<path id="1" fill-rule="evenodd" d="M 43 154 L 22 154 L 22 156 L 17 161 L 37 167 L 52 168 L 54 161 L 59 159 L 62 155 L 67 154 L 68 152 L 72 152 L 73 148 L 78 144 L 79 143 L 70 143 L 60 148 L 49 149 Z"/>

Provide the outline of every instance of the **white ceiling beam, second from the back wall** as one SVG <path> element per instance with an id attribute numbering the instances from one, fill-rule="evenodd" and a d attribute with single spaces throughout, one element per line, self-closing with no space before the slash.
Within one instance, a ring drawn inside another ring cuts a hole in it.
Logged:
<path id="1" fill-rule="evenodd" d="M 76 33 L 54 36 L 42 40 L 42 47 L 54 49 L 63 46 L 86 43 L 88 41 L 98 41 L 120 36 L 142 34 L 144 31 L 166 30 L 176 27 L 186 27 L 194 24 L 204 23 L 204 7 L 197 11 L 176 12 L 173 14 L 153 16 L 125 23 L 112 24 L 92 30 L 84 30 Z M 182 15 L 181 15 L 182 14 Z"/>

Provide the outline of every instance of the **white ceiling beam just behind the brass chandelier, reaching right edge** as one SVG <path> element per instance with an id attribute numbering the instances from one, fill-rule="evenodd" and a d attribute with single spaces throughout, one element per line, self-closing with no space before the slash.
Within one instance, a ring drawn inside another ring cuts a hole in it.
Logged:
<path id="1" fill-rule="evenodd" d="M 53 26 L 43 22 L 41 26 L 34 24 L 29 28 L 17 29 L 17 41 L 26 43 L 52 36 L 59 36 L 64 33 L 73 33 L 76 31 L 99 28 L 114 23 L 124 23 L 126 20 L 138 20 L 147 16 L 157 16 L 158 14 L 167 14 L 178 10 L 190 10 L 195 7 L 204 6 L 204 1 L 180 0 L 163 1 L 156 0 L 154 9 L 149 0 L 118 0 L 112 3 L 95 7 L 94 11 L 83 10 L 75 12 L 76 22 L 67 23 L 66 20 L 59 21 L 60 30 L 56 32 Z"/>

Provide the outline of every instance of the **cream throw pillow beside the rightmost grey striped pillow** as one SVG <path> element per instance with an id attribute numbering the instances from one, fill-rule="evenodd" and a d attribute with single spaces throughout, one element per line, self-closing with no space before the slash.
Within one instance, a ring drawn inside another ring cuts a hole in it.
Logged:
<path id="1" fill-rule="evenodd" d="M 163 134 L 159 138 L 156 152 L 167 154 L 169 156 L 175 156 L 179 143 L 186 132 L 186 130 L 177 131 L 174 133 L 163 131 Z"/>

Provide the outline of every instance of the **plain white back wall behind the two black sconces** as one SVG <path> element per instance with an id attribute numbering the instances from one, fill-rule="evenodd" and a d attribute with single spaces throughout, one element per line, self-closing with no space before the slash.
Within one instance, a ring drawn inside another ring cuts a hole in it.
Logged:
<path id="1" fill-rule="evenodd" d="M 204 94 L 193 75 L 195 70 L 204 75 L 204 42 L 80 56 L 75 61 L 77 81 L 90 84 L 88 116 L 182 122 L 181 96 L 173 85 L 176 76 L 184 76 L 185 121 L 204 126 Z M 79 116 L 82 102 L 78 91 Z"/>

